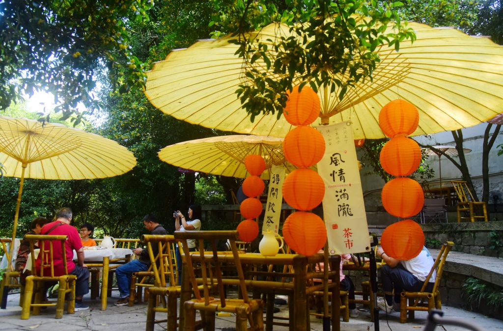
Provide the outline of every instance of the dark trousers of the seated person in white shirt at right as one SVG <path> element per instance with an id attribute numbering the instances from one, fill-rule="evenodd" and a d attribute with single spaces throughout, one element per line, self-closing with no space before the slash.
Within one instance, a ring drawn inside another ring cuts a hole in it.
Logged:
<path id="1" fill-rule="evenodd" d="M 412 275 L 409 271 L 405 270 L 401 264 L 394 268 L 389 266 L 382 266 L 381 268 L 381 282 L 384 292 L 395 291 L 395 302 L 400 302 L 400 293 L 402 290 L 417 292 L 425 282 L 420 281 Z M 425 291 L 431 292 L 435 283 L 428 283 Z"/>

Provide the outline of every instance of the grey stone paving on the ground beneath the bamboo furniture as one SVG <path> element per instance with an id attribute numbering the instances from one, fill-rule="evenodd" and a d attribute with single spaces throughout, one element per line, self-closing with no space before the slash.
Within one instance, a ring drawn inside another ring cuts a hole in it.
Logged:
<path id="1" fill-rule="evenodd" d="M 54 318 L 54 308 L 49 307 L 39 316 L 31 316 L 29 319 L 21 320 L 21 308 L 17 305 L 19 302 L 19 294 L 10 294 L 8 308 L 0 310 L 0 330 L 37 330 L 37 331 L 81 331 L 81 330 L 144 330 L 146 319 L 146 304 L 139 303 L 134 307 L 114 306 L 117 300 L 118 293 L 114 291 L 114 297 L 108 300 L 108 309 L 100 310 L 100 302 L 98 300 L 87 301 L 91 304 L 90 310 L 78 311 L 73 315 L 64 314 L 63 318 Z M 86 300 L 86 298 L 85 298 Z M 286 305 L 278 305 L 280 312 L 279 316 L 288 316 Z M 370 313 L 365 308 L 359 308 L 360 316 L 351 318 L 350 322 L 341 322 L 342 330 L 349 331 L 367 331 L 374 329 L 374 323 L 370 321 Z M 489 318 L 478 313 L 465 311 L 459 308 L 445 307 L 443 308 L 445 316 L 464 318 L 477 326 L 487 331 L 496 331 L 503 329 L 503 321 Z M 165 316 L 165 315 L 164 315 Z M 157 314 L 157 318 L 165 318 Z M 416 312 L 416 318 L 406 324 L 399 322 L 399 313 L 392 312 L 387 316 L 384 312 L 380 313 L 379 327 L 381 330 L 390 331 L 413 331 L 422 329 L 426 324 L 426 312 Z M 233 329 L 235 318 L 217 317 L 216 329 L 228 331 Z M 389 327 L 388 327 L 389 325 Z M 165 330 L 166 324 L 160 323 L 155 325 L 155 330 Z M 274 327 L 276 331 L 287 330 L 287 327 Z M 311 318 L 311 330 L 322 330 L 320 319 Z M 446 325 L 447 331 L 464 330 L 465 328 Z"/>

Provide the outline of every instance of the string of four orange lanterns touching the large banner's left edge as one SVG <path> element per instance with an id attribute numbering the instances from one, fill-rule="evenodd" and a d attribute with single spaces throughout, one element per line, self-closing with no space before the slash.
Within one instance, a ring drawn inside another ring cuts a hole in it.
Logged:
<path id="1" fill-rule="evenodd" d="M 307 212 L 318 206 L 325 194 L 325 184 L 317 172 L 308 169 L 318 163 L 325 152 L 325 140 L 320 132 L 309 127 L 319 115 L 318 95 L 309 87 L 299 92 L 295 87 L 288 93 L 283 115 L 296 127 L 288 132 L 283 141 L 285 158 L 298 169 L 283 182 L 283 198 L 299 211 L 287 217 L 283 224 L 283 238 L 296 253 L 311 256 L 326 242 L 323 220 Z"/>

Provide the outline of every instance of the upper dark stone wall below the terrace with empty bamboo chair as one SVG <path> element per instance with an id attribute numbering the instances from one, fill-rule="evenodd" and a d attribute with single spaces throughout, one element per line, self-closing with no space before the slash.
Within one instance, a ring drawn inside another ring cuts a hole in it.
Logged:
<path id="1" fill-rule="evenodd" d="M 453 251 L 503 258 L 503 221 L 423 224 L 427 246 L 454 241 Z"/>

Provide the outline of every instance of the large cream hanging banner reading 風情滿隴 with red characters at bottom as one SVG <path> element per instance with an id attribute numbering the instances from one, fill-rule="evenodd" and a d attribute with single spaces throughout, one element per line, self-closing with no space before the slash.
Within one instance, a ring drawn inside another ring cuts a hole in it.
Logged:
<path id="1" fill-rule="evenodd" d="M 325 138 L 325 154 L 317 168 L 325 183 L 323 216 L 328 252 L 367 252 L 370 238 L 353 130 L 347 122 L 316 129 Z"/>

